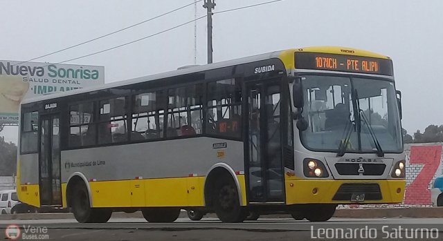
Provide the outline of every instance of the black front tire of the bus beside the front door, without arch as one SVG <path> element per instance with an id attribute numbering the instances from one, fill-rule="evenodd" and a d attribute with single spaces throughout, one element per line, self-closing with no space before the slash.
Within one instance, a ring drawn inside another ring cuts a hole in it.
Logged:
<path id="1" fill-rule="evenodd" d="M 221 222 L 243 222 L 246 211 L 239 203 L 237 186 L 232 177 L 221 177 L 213 192 L 215 214 Z"/>

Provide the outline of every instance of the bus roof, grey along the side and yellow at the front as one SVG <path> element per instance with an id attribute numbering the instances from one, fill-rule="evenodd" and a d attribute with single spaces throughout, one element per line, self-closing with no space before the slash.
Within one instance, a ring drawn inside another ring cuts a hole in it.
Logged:
<path id="1" fill-rule="evenodd" d="M 163 79 L 167 77 L 174 77 L 178 75 L 186 75 L 190 73 L 197 73 L 204 70 L 211 70 L 216 68 L 224 68 L 228 66 L 234 66 L 238 64 L 246 64 L 254 61 L 261 61 L 264 59 L 272 59 L 272 58 L 279 58 L 283 61 L 284 65 L 287 69 L 293 68 L 293 53 L 294 52 L 321 52 L 321 53 L 332 53 L 332 54 L 338 54 L 338 55 L 354 55 L 354 56 L 363 56 L 363 57 L 376 57 L 380 59 L 390 59 L 389 57 L 385 55 L 379 55 L 374 52 L 369 52 L 366 50 L 359 50 L 355 48 L 345 48 L 345 47 L 338 47 L 338 46 L 318 46 L 318 47 L 307 47 L 307 48 L 292 48 L 288 50 L 280 50 L 275 52 L 268 52 L 261 55 L 253 55 L 250 57 L 244 57 L 240 59 L 233 59 L 228 61 L 221 61 L 214 64 L 206 64 L 201 66 L 192 66 L 190 68 L 179 68 L 178 70 L 172 70 L 165 73 L 159 73 L 154 75 L 147 75 L 143 77 L 137 77 L 133 79 L 126 79 L 123 81 L 115 81 L 108 84 L 104 84 L 101 86 L 94 86 L 90 88 L 82 88 L 78 90 L 69 90 L 68 92 L 60 92 L 60 93 L 53 93 L 53 94 L 47 94 L 42 95 L 35 98 L 30 99 L 24 99 L 24 101 L 21 104 L 28 104 L 33 102 L 39 102 L 44 101 L 47 99 L 55 99 L 59 97 L 66 97 L 70 95 L 78 95 L 81 93 L 88 93 L 91 91 L 96 90 L 102 90 L 105 88 L 113 88 L 118 86 L 126 86 L 129 84 L 137 84 L 144 81 L 151 81 L 154 79 Z"/>

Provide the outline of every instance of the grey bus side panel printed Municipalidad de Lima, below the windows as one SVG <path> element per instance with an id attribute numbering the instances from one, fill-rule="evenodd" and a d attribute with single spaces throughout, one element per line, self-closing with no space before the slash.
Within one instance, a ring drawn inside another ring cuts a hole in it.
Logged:
<path id="1" fill-rule="evenodd" d="M 219 142 L 226 148 L 213 148 Z M 223 158 L 218 151 L 224 151 Z M 244 171 L 243 142 L 193 137 L 62 151 L 62 182 L 75 172 L 96 181 L 204 176 L 219 162 Z"/>

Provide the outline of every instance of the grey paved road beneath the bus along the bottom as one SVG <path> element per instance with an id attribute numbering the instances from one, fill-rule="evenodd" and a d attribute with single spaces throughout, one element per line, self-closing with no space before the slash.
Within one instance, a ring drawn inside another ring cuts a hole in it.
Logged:
<path id="1" fill-rule="evenodd" d="M 49 240 L 343 240 L 340 235 L 328 239 L 322 230 L 337 229 L 365 229 L 377 233 L 374 240 L 399 240 L 405 238 L 401 229 L 426 228 L 438 229 L 440 232 L 427 233 L 428 240 L 443 240 L 443 218 L 386 218 L 386 219 L 351 219 L 333 218 L 328 222 L 312 223 L 307 221 L 295 221 L 291 219 L 262 218 L 257 221 L 243 222 L 239 224 L 224 224 L 215 218 L 204 218 L 200 222 L 193 222 L 188 218 L 179 218 L 170 224 L 148 223 L 142 218 L 111 218 L 106 224 L 79 224 L 75 220 L 1 220 L 0 238 L 5 237 L 5 229 L 9 224 L 17 224 L 21 234 L 30 234 L 29 227 L 37 230 L 37 233 L 47 236 L 35 236 L 31 238 L 49 238 Z M 388 226 L 383 229 L 383 226 Z M 48 230 L 43 230 L 46 227 Z M 27 231 L 26 231 L 27 230 Z M 385 232 L 383 232 L 385 231 Z M 389 235 L 386 239 L 387 235 Z M 319 233 L 320 232 L 320 233 Z M 329 232 L 329 234 L 331 234 Z M 345 234 L 350 234 L 345 232 Z M 355 233 L 352 233 L 355 235 Z M 349 240 L 370 240 L 362 236 L 352 236 Z M 419 234 L 418 234 L 419 235 Z M 324 236 L 324 237 L 323 237 Z M 426 237 L 426 233 L 425 236 Z M 426 240 L 414 237 L 410 240 Z M 346 236 L 345 236 L 346 240 Z M 405 240 L 405 239 L 402 239 Z"/>

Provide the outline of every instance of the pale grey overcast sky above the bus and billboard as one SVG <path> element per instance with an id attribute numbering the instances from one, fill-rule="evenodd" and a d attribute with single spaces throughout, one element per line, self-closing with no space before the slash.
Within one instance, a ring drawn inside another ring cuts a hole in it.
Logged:
<path id="1" fill-rule="evenodd" d="M 215 0 L 215 11 L 269 0 Z M 24 61 L 179 8 L 181 1 L 1 0 L 0 59 Z M 197 3 L 197 17 L 205 15 Z M 392 57 L 408 133 L 443 124 L 443 1 L 284 0 L 214 16 L 214 61 L 286 48 L 347 46 Z M 35 61 L 60 62 L 124 44 L 195 17 L 190 6 L 106 39 Z M 197 64 L 206 63 L 206 19 L 197 21 Z M 67 64 L 105 66 L 105 82 L 194 64 L 194 24 Z M 0 135 L 16 142 L 17 128 Z"/>

